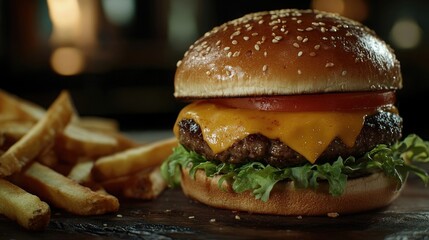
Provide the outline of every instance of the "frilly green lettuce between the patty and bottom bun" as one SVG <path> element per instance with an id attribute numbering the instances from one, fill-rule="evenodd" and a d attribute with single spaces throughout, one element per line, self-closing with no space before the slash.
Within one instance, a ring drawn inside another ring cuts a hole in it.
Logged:
<path id="1" fill-rule="evenodd" d="M 201 155 L 188 151 L 182 145 L 161 166 L 161 173 L 171 187 L 180 185 L 180 168 L 190 168 L 191 177 L 198 169 L 213 177 L 221 175 L 218 184 L 230 182 L 235 192 L 251 191 L 256 199 L 267 201 L 270 192 L 279 181 L 293 181 L 298 188 L 317 188 L 320 181 L 327 181 L 329 193 L 340 196 L 350 176 L 383 171 L 386 176 L 398 182 L 398 188 L 405 183 L 409 173 L 418 176 L 425 185 L 429 174 L 418 166 L 429 162 L 429 142 L 415 134 L 392 146 L 377 145 L 364 156 L 339 157 L 332 163 L 305 164 L 302 166 L 277 168 L 260 162 L 243 165 L 207 161 Z"/>

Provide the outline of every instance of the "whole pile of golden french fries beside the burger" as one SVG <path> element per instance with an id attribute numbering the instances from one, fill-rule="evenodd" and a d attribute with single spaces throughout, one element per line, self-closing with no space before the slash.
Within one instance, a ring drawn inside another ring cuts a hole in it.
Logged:
<path id="1" fill-rule="evenodd" d="M 64 90 L 44 109 L 0 89 L 0 214 L 45 229 L 51 207 L 76 215 L 119 210 L 119 199 L 154 199 L 174 138 L 138 143 L 112 119 L 81 117 Z"/>

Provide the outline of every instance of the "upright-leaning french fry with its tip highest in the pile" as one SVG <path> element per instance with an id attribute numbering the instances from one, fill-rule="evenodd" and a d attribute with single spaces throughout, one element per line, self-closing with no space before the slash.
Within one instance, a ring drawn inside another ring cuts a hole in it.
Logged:
<path id="1" fill-rule="evenodd" d="M 65 128 L 73 114 L 70 96 L 63 91 L 30 131 L 0 156 L 0 177 L 19 172 L 41 151 L 52 146 L 56 134 Z"/>

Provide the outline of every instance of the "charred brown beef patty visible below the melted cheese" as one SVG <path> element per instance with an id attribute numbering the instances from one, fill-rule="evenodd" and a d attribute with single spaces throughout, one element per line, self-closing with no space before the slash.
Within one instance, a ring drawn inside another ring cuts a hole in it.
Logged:
<path id="1" fill-rule="evenodd" d="M 263 162 L 276 167 L 305 164 L 308 161 L 278 139 L 269 139 L 261 134 L 251 134 L 238 140 L 227 150 L 214 154 L 204 141 L 201 128 L 192 119 L 183 119 L 179 123 L 179 142 L 187 149 L 203 155 L 210 161 L 241 164 Z M 400 139 L 402 118 L 390 112 L 377 111 L 365 118 L 364 126 L 355 145 L 347 147 L 339 138 L 334 139 L 317 159 L 317 163 L 336 160 L 339 156 L 361 156 L 377 144 L 390 145 Z"/>

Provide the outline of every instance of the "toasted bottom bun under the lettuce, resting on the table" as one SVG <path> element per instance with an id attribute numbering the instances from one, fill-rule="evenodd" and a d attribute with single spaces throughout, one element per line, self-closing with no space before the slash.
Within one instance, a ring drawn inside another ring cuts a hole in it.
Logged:
<path id="1" fill-rule="evenodd" d="M 220 176 L 207 177 L 198 170 L 195 179 L 188 169 L 182 169 L 182 190 L 190 198 L 206 205 L 237 211 L 274 215 L 326 215 L 368 211 L 389 205 L 401 189 L 397 182 L 383 173 L 349 179 L 345 192 L 338 197 L 328 193 L 328 184 L 314 189 L 295 188 L 292 182 L 277 183 L 267 202 L 255 199 L 249 192 L 235 193 L 226 181 L 218 187 Z"/>

